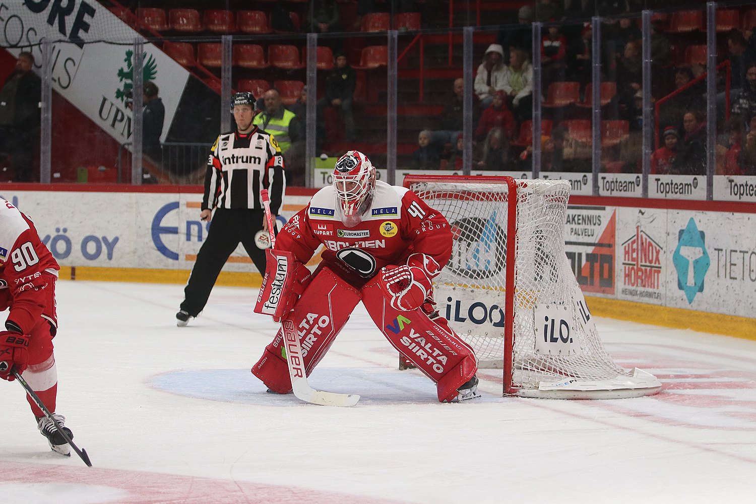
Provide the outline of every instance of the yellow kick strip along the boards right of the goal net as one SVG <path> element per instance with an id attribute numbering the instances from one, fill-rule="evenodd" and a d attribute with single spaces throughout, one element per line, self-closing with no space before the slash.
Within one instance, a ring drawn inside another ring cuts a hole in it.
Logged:
<path id="1" fill-rule="evenodd" d="M 693 329 L 756 340 L 756 319 L 708 311 L 685 310 L 667 306 L 646 305 L 620 299 L 586 296 L 590 313 L 631 322 L 655 324 L 676 329 Z"/>

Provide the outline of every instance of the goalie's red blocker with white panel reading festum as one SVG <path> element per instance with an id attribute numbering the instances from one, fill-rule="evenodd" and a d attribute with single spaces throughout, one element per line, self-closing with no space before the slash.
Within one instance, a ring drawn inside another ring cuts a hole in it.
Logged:
<path id="1" fill-rule="evenodd" d="M 271 315 L 274 322 L 280 322 L 293 310 L 312 279 L 307 267 L 291 252 L 268 249 L 265 253 L 265 277 L 255 303 L 255 313 Z"/>

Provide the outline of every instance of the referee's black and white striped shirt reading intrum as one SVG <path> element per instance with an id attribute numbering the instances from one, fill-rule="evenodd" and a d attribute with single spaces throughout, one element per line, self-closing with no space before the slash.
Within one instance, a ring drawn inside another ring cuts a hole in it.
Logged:
<path id="1" fill-rule="evenodd" d="M 218 135 L 207 162 L 202 209 L 262 209 L 260 190 L 268 189 L 271 213 L 277 215 L 286 175 L 283 156 L 273 135 L 259 128 L 246 135 Z"/>

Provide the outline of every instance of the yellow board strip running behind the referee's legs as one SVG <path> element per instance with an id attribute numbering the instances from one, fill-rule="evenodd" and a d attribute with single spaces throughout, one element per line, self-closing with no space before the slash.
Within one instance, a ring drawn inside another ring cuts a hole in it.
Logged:
<path id="1" fill-rule="evenodd" d="M 107 282 L 136 283 L 187 283 L 188 270 L 143 269 L 137 267 L 61 266 L 61 280 L 98 280 Z M 215 285 L 233 287 L 257 287 L 262 285 L 259 273 L 221 271 Z"/>

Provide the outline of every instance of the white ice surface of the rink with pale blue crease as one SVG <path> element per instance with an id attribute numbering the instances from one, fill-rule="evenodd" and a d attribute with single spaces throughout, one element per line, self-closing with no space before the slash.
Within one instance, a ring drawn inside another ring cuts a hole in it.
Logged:
<path id="1" fill-rule="evenodd" d="M 216 287 L 175 326 L 182 286 L 60 281 L 58 413 L 87 450 L 52 453 L 0 383 L 3 502 L 753 502 L 756 342 L 596 317 L 652 397 L 484 394 L 438 404 L 361 307 L 311 377 L 353 408 L 265 393 L 249 373 L 277 329 L 256 290 Z"/>

